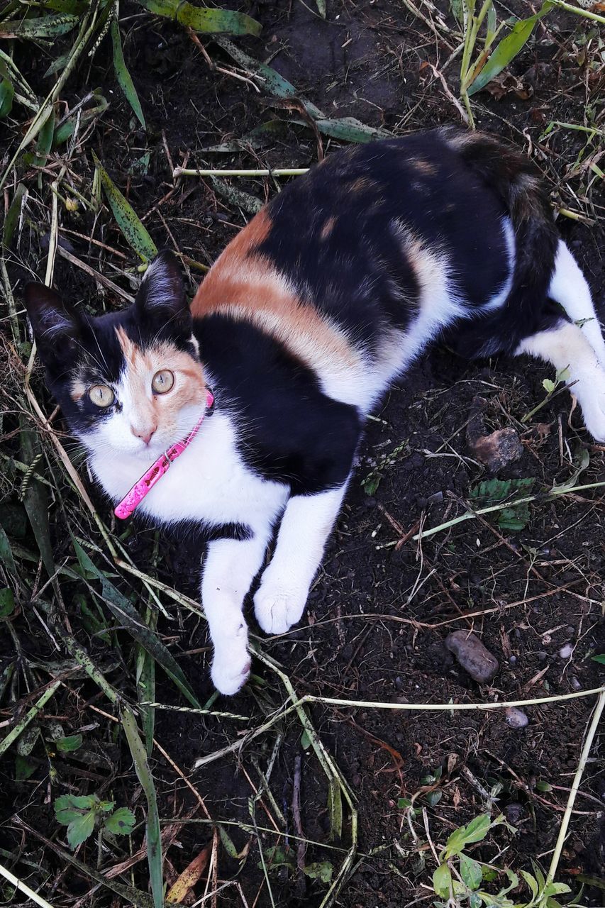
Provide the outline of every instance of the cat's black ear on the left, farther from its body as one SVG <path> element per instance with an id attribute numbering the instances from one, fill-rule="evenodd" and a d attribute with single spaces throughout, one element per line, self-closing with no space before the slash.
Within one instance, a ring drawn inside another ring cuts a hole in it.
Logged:
<path id="1" fill-rule="evenodd" d="M 24 296 L 35 343 L 45 365 L 74 353 L 82 331 L 77 312 L 45 284 L 26 284 Z"/>

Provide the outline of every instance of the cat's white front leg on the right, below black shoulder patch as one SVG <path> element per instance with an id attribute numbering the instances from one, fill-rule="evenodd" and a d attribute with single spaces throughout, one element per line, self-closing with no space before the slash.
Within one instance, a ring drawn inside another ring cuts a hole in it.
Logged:
<path id="1" fill-rule="evenodd" d="M 273 558 L 254 596 L 266 634 L 284 634 L 301 620 L 323 548 L 341 509 L 347 483 L 315 495 L 295 495 L 283 512 Z"/>

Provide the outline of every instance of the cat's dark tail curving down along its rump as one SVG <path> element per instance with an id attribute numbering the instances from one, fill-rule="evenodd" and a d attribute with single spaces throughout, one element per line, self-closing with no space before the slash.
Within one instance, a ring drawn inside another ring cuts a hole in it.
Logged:
<path id="1" fill-rule="evenodd" d="M 548 291 L 559 234 L 549 196 L 531 162 L 501 139 L 449 130 L 444 131 L 444 138 L 501 199 L 515 236 L 511 291 L 501 309 L 470 326 L 472 349 L 467 355 L 511 353 L 524 338 L 548 327 L 553 318 Z"/>

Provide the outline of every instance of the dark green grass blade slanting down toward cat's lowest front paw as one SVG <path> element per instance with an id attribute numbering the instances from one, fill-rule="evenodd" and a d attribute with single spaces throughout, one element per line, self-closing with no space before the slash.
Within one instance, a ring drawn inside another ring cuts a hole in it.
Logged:
<path id="1" fill-rule="evenodd" d="M 143 646 L 150 656 L 154 657 L 157 664 L 164 668 L 166 675 L 174 681 L 174 684 L 191 705 L 195 706 L 196 709 L 201 709 L 202 706 L 199 700 L 193 694 L 193 690 L 183 675 L 183 669 L 178 665 L 172 653 L 156 637 L 153 630 L 147 627 L 132 603 L 104 576 L 103 571 L 96 567 L 94 561 L 75 539 L 74 549 L 84 574 L 88 577 L 91 575 L 97 577 L 101 581 L 103 601 L 114 617 L 125 627 L 131 637 L 134 637 L 136 642 Z"/>

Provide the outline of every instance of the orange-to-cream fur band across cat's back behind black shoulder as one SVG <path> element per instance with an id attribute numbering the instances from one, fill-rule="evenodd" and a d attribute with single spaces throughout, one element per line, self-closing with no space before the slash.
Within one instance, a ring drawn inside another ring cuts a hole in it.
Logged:
<path id="1" fill-rule="evenodd" d="M 271 223 L 263 209 L 229 243 L 193 298 L 193 318 L 222 312 L 250 321 L 314 370 L 328 360 L 354 367 L 359 354 L 345 333 L 303 301 L 293 283 L 256 252 Z"/>

